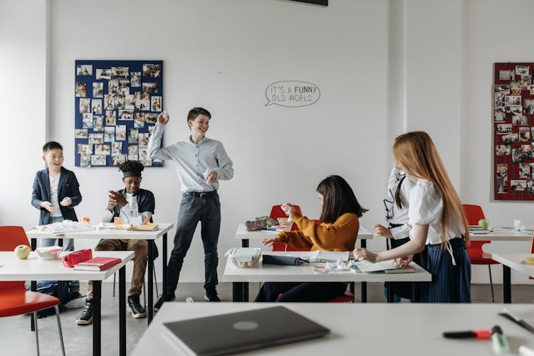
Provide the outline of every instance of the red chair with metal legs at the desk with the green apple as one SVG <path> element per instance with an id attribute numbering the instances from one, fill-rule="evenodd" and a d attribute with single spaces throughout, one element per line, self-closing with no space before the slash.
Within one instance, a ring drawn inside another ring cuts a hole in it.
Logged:
<path id="1" fill-rule="evenodd" d="M 20 226 L 0 226 L 0 251 L 13 251 L 19 244 L 26 244 L 28 247 L 28 237 Z M 0 282 L 0 317 L 33 314 L 35 323 L 35 337 L 37 343 L 37 355 L 39 355 L 39 334 L 37 329 L 37 312 L 43 309 L 54 307 L 56 309 L 56 319 L 58 320 L 59 340 L 61 342 L 61 352 L 65 356 L 65 345 L 63 345 L 63 333 L 61 332 L 61 320 L 58 309 L 59 299 L 48 296 L 44 293 L 26 291 L 24 281 Z"/>

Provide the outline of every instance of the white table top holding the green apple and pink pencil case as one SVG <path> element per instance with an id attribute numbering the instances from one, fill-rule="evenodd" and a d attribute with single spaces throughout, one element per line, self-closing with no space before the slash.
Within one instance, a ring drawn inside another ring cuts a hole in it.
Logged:
<path id="1" fill-rule="evenodd" d="M 77 271 L 63 266 L 61 259 L 40 259 L 36 252 L 31 252 L 28 259 L 17 259 L 14 252 L 0 252 L 0 281 L 103 281 L 134 256 L 133 251 L 93 251 L 93 257 L 118 257 L 122 261 L 105 271 Z"/>

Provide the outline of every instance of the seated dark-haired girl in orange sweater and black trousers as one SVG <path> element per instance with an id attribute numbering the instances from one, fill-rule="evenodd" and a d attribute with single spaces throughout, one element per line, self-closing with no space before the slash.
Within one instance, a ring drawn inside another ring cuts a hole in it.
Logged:
<path id="1" fill-rule="evenodd" d="M 323 206 L 320 225 L 301 216 L 293 205 L 282 205 L 283 210 L 297 224 L 300 231 L 280 232 L 263 244 L 283 242 L 311 251 L 351 251 L 354 249 L 364 209 L 358 203 L 350 185 L 340 176 L 328 176 L 317 187 Z M 341 296 L 347 289 L 342 282 L 266 282 L 256 296 L 258 302 L 320 302 Z M 283 293 L 281 296 L 279 296 Z"/>

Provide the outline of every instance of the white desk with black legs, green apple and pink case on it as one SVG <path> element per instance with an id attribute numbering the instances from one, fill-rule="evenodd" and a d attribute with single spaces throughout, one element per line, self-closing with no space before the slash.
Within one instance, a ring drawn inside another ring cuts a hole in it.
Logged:
<path id="1" fill-rule="evenodd" d="M 36 252 L 31 252 L 28 259 L 17 259 L 13 252 L 0 252 L 0 281 L 93 281 L 93 355 L 101 352 L 100 296 L 102 281 L 119 271 L 119 352 L 126 355 L 126 282 L 125 264 L 134 258 L 132 251 L 97 251 L 94 257 L 118 257 L 120 264 L 105 271 L 76 271 L 63 266 L 60 259 L 42 260 Z"/>

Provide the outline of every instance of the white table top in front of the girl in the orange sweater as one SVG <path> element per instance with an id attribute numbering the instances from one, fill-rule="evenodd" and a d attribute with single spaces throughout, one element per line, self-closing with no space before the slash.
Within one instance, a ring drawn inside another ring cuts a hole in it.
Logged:
<path id="1" fill-rule="evenodd" d="M 285 256 L 297 252 L 268 252 Z M 257 267 L 238 267 L 230 259 L 226 259 L 223 280 L 225 282 L 424 282 L 431 281 L 432 275 L 422 269 L 416 263 L 414 273 L 388 274 L 376 273 L 352 273 L 352 274 L 314 274 L 310 264 L 301 266 L 281 266 L 278 264 L 258 264 Z"/>

